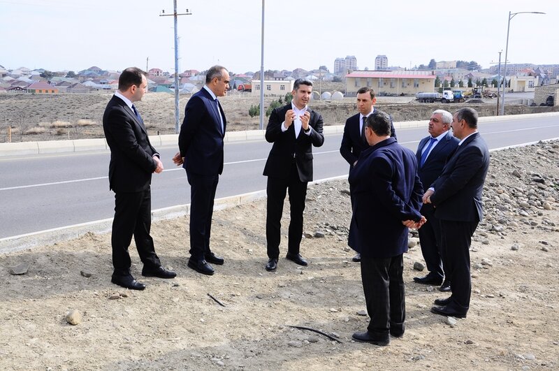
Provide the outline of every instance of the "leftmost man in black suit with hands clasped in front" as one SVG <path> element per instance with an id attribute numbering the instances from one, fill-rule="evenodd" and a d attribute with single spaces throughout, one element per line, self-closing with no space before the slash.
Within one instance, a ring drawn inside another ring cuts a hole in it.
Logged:
<path id="1" fill-rule="evenodd" d="M 111 282 L 127 289 L 143 290 L 131 275 L 128 247 L 132 235 L 142 261 L 145 277 L 173 278 L 161 266 L 150 235 L 152 223 L 152 173 L 161 173 L 163 163 L 152 147 L 140 114 L 133 102 L 140 101 L 147 88 L 147 73 L 131 67 L 122 71 L 118 90 L 103 114 L 103 131 L 110 147 L 109 187 L 115 191 L 115 217 L 112 220 Z"/>

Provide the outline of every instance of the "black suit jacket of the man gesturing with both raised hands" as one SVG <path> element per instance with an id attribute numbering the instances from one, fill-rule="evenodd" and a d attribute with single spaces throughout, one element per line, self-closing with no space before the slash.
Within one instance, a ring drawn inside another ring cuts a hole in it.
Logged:
<path id="1" fill-rule="evenodd" d="M 299 136 L 295 138 L 293 124 L 286 131 L 282 131 L 281 126 L 288 110 L 291 110 L 291 103 L 275 108 L 270 114 L 266 126 L 266 140 L 274 145 L 264 166 L 264 175 L 284 179 L 289 177 L 289 169 L 295 158 L 300 181 L 310 182 L 312 181 L 312 146 L 320 147 L 324 143 L 322 134 L 324 121 L 319 112 L 307 107 L 310 113 L 309 125 L 312 127 L 310 135 L 304 133 L 301 128 Z"/>

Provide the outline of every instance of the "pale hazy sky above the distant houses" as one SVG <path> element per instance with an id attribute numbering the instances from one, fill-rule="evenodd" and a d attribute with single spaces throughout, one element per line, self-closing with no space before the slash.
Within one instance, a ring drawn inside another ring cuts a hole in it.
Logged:
<path id="1" fill-rule="evenodd" d="M 221 64 L 234 73 L 261 67 L 262 0 L 177 0 L 179 71 Z M 0 65 L 81 71 L 91 66 L 175 70 L 173 0 L 0 0 Z M 265 0 L 265 70 L 413 68 L 435 61 L 559 64 L 558 0 L 428 2 Z"/>

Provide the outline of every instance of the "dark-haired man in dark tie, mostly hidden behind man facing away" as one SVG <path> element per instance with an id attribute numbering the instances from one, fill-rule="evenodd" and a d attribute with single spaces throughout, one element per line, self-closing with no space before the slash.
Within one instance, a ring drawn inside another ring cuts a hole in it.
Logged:
<path id="1" fill-rule="evenodd" d="M 349 163 L 349 171 L 354 168 L 359 158 L 359 154 L 363 150 L 366 150 L 369 145 L 367 140 L 365 140 L 365 119 L 372 113 L 375 112 L 375 103 L 377 98 L 375 98 L 375 91 L 370 87 L 362 87 L 357 91 L 357 109 L 359 113 L 349 117 L 346 120 L 344 126 L 344 136 L 342 136 L 342 145 L 340 145 L 340 154 Z M 396 138 L 396 131 L 394 125 L 392 124 L 392 119 L 390 120 L 390 133 L 393 138 Z M 354 205 L 354 197 L 351 192 L 351 186 L 349 188 L 349 194 L 351 197 L 351 206 Z M 353 261 L 361 261 L 361 255 L 359 254 L 359 248 L 356 246 L 356 241 L 353 235 L 348 236 L 347 245 L 354 249 L 357 254 L 353 257 Z"/>

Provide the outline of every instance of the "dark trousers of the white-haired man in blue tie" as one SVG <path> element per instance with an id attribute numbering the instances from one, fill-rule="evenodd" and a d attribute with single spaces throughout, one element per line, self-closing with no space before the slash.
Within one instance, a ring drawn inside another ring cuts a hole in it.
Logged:
<path id="1" fill-rule="evenodd" d="M 433 205 L 423 205 L 421 214 L 427 218 L 427 221 L 419 228 L 419 242 L 421 245 L 421 253 L 427 265 L 427 270 L 431 275 L 437 277 L 444 276 L 443 268 L 446 266 L 441 257 L 441 227 L 439 219 L 435 217 Z M 448 279 L 448 277 L 447 277 Z"/>

